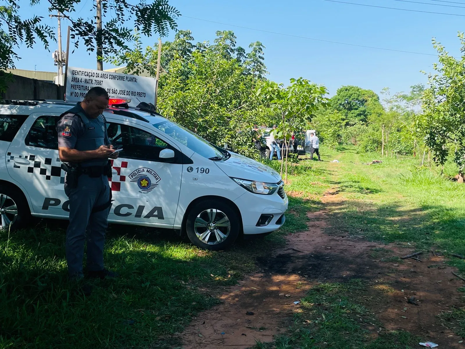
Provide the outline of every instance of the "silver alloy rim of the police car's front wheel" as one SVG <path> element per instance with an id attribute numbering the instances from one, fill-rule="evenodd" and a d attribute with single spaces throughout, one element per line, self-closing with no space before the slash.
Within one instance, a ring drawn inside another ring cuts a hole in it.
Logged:
<path id="1" fill-rule="evenodd" d="M 231 222 L 224 212 L 209 208 L 200 212 L 195 219 L 194 231 L 201 242 L 207 245 L 218 245 L 229 236 Z"/>

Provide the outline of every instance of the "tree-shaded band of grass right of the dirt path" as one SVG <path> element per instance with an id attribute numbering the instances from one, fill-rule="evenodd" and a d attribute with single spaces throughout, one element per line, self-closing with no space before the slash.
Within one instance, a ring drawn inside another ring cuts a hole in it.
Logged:
<path id="1" fill-rule="evenodd" d="M 406 208 L 403 202 L 350 200 L 328 202 L 325 207 L 331 211 L 329 233 L 361 235 L 385 243 L 414 242 L 417 248 L 434 245 L 448 253 L 465 254 L 463 210 L 443 205 Z"/>

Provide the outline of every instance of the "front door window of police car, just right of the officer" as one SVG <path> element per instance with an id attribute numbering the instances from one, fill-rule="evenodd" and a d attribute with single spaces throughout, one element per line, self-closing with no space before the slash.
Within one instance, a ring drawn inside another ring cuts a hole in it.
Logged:
<path id="1" fill-rule="evenodd" d="M 113 147 L 123 147 L 120 152 L 123 158 L 159 161 L 160 151 L 166 148 L 175 150 L 165 141 L 140 128 L 110 122 L 107 133 Z"/>

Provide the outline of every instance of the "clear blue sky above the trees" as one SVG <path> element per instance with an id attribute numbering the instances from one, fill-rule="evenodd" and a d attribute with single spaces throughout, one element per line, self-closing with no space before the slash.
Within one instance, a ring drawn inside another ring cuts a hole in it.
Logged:
<path id="1" fill-rule="evenodd" d="M 463 5 L 434 0 L 412 0 L 432 5 L 398 0 L 341 1 L 465 16 L 465 0 L 454 0 L 463 2 Z M 80 16 L 87 18 L 93 15 L 92 2 L 82 0 L 77 5 Z M 238 45 L 243 47 L 259 40 L 266 46 L 265 63 L 270 79 L 287 84 L 290 78 L 302 76 L 325 85 L 331 95 L 342 85 L 358 85 L 377 93 L 383 87 L 390 87 L 392 92 L 408 91 L 411 85 L 426 83 L 426 76 L 420 71 L 431 72 L 437 57 L 308 40 L 230 25 L 425 54 L 436 54 L 431 43 L 432 37 L 435 37 L 456 56 L 460 54 L 457 32 L 465 30 L 465 18 L 461 16 L 398 11 L 325 0 L 170 0 L 169 3 L 184 15 L 178 20 L 179 29 L 192 30 L 196 41 L 213 41 L 217 30 L 233 30 L 238 37 Z M 44 23 L 56 26 L 56 19 L 48 18 L 45 0 L 38 6 L 21 7 L 23 17 L 33 13 L 46 17 Z M 67 25 L 66 21 L 62 24 L 64 48 Z M 145 38 L 144 43 L 152 45 L 157 37 Z M 172 38 L 173 33 L 162 40 Z M 55 46 L 53 43 L 53 50 Z M 39 45 L 34 49 L 21 47 L 18 53 L 22 59 L 16 63 L 17 68 L 55 70 L 51 53 Z M 69 61 L 71 66 L 76 67 L 96 66 L 94 54 L 89 56 L 84 46 L 70 54 Z M 104 65 L 104 69 L 110 67 Z"/>

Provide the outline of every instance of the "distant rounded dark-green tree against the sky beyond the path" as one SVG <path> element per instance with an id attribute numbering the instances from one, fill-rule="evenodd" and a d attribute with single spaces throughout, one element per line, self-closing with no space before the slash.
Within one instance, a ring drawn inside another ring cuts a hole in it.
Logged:
<path id="1" fill-rule="evenodd" d="M 372 90 L 358 86 L 342 86 L 331 98 L 330 105 L 345 116 L 347 126 L 357 122 L 366 123 L 370 115 L 370 107 L 379 104 L 379 96 Z"/>

